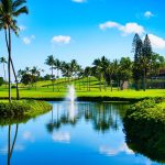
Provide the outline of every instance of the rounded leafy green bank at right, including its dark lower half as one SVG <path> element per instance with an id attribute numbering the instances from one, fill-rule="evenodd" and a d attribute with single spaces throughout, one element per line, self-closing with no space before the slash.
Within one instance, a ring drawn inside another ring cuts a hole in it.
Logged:
<path id="1" fill-rule="evenodd" d="M 124 118 L 128 146 L 153 161 L 165 163 L 165 102 L 148 99 L 130 107 Z"/>

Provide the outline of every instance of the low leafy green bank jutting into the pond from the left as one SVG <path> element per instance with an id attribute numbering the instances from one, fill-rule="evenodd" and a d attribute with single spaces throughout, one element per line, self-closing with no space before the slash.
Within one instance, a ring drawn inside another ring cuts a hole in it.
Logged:
<path id="1" fill-rule="evenodd" d="M 52 106 L 45 101 L 21 100 L 9 103 L 3 100 L 0 101 L 0 125 L 26 122 L 51 109 Z"/>

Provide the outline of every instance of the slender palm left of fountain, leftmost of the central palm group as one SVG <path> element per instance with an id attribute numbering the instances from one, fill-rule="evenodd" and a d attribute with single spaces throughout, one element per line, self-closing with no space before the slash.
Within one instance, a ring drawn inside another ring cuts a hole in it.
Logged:
<path id="1" fill-rule="evenodd" d="M 54 62 L 55 62 L 55 59 L 54 59 L 53 55 L 47 56 L 47 58 L 45 61 L 45 64 L 48 65 L 51 67 L 51 70 L 52 70 L 52 76 L 51 76 L 52 78 L 51 79 L 52 79 L 53 91 L 54 91 L 54 73 L 53 73 Z"/>

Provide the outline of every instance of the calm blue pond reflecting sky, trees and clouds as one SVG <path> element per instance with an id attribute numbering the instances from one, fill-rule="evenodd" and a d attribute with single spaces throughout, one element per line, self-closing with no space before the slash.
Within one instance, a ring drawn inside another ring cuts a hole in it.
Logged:
<path id="1" fill-rule="evenodd" d="M 53 111 L 0 127 L 0 165 L 157 165 L 125 143 L 128 105 L 51 102 Z"/>

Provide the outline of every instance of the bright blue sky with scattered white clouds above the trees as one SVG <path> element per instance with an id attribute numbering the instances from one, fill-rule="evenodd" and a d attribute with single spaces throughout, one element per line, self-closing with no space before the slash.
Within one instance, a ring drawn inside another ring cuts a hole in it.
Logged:
<path id="1" fill-rule="evenodd" d="M 134 33 L 147 33 L 153 51 L 165 55 L 164 0 L 28 0 L 28 15 L 21 15 L 19 37 L 12 35 L 16 70 L 44 64 L 48 55 L 82 66 L 95 58 L 133 58 Z M 0 56 L 8 57 L 0 32 Z M 2 72 L 0 72 L 2 75 Z"/>

